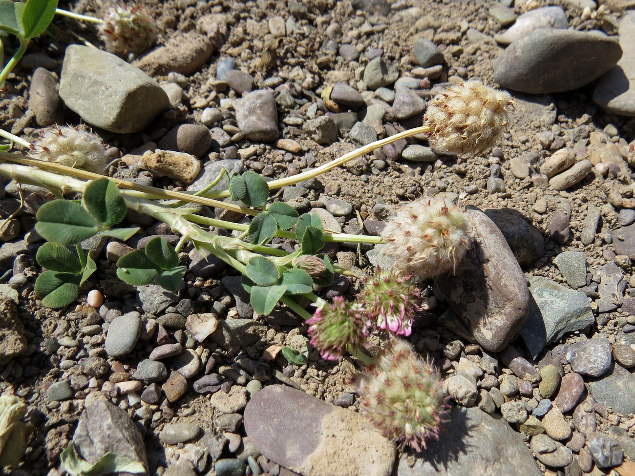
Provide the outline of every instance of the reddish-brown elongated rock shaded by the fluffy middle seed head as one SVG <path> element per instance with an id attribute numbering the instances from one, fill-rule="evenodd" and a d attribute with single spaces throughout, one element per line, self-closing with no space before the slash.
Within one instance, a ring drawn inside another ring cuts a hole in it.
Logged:
<path id="1" fill-rule="evenodd" d="M 520 332 L 527 318 L 525 275 L 505 237 L 483 211 L 468 206 L 474 241 L 454 272 L 436 282 L 478 343 L 498 352 Z"/>

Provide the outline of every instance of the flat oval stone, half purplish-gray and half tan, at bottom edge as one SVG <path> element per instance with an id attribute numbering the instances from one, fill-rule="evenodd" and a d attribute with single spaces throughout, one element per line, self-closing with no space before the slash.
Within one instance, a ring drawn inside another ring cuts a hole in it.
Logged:
<path id="1" fill-rule="evenodd" d="M 394 445 L 366 418 L 291 387 L 256 393 L 244 409 L 244 428 L 260 453 L 305 476 L 392 472 Z"/>

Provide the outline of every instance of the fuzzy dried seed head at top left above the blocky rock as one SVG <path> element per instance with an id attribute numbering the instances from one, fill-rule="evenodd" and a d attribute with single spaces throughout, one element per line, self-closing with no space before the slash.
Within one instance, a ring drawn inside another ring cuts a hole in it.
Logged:
<path id="1" fill-rule="evenodd" d="M 104 11 L 101 27 L 106 51 L 118 56 L 139 55 L 156 41 L 156 27 L 142 6 L 116 4 Z"/>

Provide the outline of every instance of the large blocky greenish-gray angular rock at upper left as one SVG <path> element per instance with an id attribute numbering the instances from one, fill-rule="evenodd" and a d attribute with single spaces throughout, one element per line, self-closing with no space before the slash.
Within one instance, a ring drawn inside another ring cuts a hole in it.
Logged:
<path id="1" fill-rule="evenodd" d="M 66 48 L 60 96 L 88 124 L 119 134 L 144 130 L 170 105 L 159 83 L 142 70 L 79 44 Z"/>

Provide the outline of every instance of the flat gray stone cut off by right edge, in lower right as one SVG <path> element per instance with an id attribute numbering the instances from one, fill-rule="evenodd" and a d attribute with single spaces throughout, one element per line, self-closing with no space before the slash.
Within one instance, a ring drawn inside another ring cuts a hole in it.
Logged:
<path id="1" fill-rule="evenodd" d="M 613 364 L 603 378 L 591 380 L 588 385 L 593 398 L 616 413 L 635 413 L 635 375 L 624 367 Z"/>

